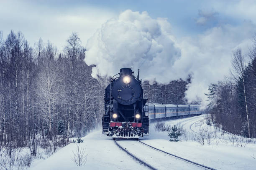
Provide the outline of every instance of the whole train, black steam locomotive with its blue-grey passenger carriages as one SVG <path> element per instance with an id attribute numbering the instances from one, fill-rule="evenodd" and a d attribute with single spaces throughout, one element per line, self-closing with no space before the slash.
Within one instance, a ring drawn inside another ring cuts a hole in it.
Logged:
<path id="1" fill-rule="evenodd" d="M 134 138 L 149 134 L 149 119 L 201 115 L 200 105 L 149 103 L 143 98 L 142 80 L 130 68 L 121 68 L 105 88 L 102 134 L 113 139 Z"/>

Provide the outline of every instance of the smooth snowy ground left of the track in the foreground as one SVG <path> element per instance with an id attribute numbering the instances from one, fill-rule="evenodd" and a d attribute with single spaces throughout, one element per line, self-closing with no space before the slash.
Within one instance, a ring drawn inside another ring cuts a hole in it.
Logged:
<path id="1" fill-rule="evenodd" d="M 102 130 L 90 133 L 82 139 L 84 142 L 79 145 L 86 148 L 87 162 L 85 166 L 77 167 L 72 161 L 72 150 L 76 150 L 77 145 L 71 143 L 46 160 L 33 162 L 29 170 L 148 169 L 120 150 L 112 138 L 102 135 Z"/>

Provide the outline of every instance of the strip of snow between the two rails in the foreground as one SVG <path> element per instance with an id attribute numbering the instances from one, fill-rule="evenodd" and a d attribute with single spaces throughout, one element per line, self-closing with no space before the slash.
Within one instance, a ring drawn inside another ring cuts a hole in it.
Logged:
<path id="1" fill-rule="evenodd" d="M 131 154 L 145 161 L 158 170 L 198 170 L 205 169 L 192 163 L 187 163 L 166 153 L 149 148 L 136 140 L 116 141 L 122 148 L 128 150 Z"/>

